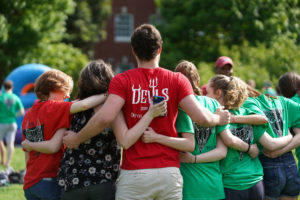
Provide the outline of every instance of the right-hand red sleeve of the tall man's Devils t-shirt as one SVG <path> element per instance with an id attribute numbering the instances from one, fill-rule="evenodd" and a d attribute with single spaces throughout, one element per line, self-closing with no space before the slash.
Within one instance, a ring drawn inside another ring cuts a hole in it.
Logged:
<path id="1" fill-rule="evenodd" d="M 189 95 L 194 95 L 190 81 L 181 73 L 178 74 L 178 102 Z"/>

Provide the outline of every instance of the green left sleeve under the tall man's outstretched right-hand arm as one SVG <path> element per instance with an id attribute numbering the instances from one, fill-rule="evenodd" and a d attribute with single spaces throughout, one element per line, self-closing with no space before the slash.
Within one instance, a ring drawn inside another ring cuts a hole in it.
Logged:
<path id="1" fill-rule="evenodd" d="M 181 108 L 178 110 L 176 129 L 178 133 L 194 133 L 194 126 L 191 118 Z"/>

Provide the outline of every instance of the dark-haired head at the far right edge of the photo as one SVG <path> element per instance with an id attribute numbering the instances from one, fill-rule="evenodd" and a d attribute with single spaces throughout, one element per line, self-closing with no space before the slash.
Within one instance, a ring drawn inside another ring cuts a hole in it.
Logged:
<path id="1" fill-rule="evenodd" d="M 300 76 L 295 72 L 287 72 L 280 76 L 278 80 L 278 87 L 281 95 L 287 98 L 295 96 L 300 90 Z"/>

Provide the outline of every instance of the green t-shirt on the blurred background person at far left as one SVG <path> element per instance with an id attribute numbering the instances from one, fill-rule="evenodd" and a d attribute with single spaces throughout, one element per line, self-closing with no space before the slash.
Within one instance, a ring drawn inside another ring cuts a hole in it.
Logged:
<path id="1" fill-rule="evenodd" d="M 0 95 L 0 123 L 15 123 L 16 114 L 22 108 L 23 104 L 17 95 L 4 92 L 2 95 Z"/>

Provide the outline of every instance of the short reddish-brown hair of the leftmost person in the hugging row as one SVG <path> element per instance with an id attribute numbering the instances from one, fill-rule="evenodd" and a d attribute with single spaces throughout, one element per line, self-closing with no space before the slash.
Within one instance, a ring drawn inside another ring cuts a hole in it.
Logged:
<path id="1" fill-rule="evenodd" d="M 46 101 L 50 92 L 62 91 L 71 93 L 73 90 L 73 79 L 64 72 L 51 69 L 44 72 L 35 82 L 34 92 L 38 99 Z"/>

